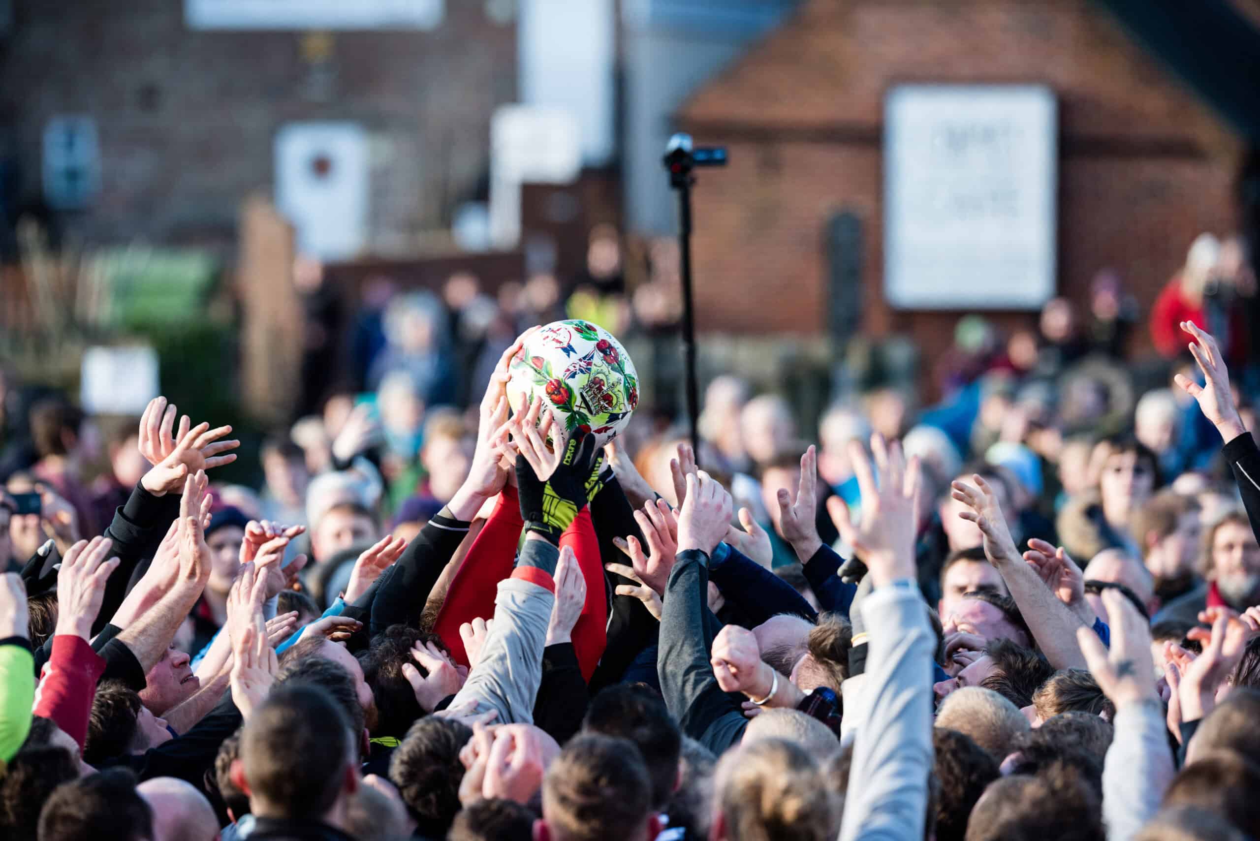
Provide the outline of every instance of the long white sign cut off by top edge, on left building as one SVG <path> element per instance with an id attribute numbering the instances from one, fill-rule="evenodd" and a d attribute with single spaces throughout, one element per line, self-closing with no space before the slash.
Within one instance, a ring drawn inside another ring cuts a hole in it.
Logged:
<path id="1" fill-rule="evenodd" d="M 189 29 L 435 29 L 445 0 L 184 0 Z"/>

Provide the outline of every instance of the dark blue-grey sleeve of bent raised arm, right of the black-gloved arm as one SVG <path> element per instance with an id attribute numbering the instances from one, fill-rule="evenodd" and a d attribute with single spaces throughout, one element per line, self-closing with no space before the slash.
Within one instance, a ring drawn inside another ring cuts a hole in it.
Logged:
<path id="1" fill-rule="evenodd" d="M 679 729 L 721 755 L 743 737 L 748 720 L 740 703 L 722 691 L 709 665 L 716 622 L 709 619 L 708 559 L 704 553 L 678 553 L 660 618 L 656 674 L 665 706 Z"/>

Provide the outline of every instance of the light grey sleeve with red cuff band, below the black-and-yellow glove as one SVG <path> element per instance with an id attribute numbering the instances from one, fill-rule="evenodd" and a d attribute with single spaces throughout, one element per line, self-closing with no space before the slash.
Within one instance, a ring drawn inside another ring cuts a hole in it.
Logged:
<path id="1" fill-rule="evenodd" d="M 499 582 L 494 627 L 451 708 L 475 701 L 474 714 L 498 711 L 494 724 L 533 724 L 543 679 L 543 646 L 556 595 L 551 572 L 559 555 L 546 540 L 527 540 L 510 578 Z"/>

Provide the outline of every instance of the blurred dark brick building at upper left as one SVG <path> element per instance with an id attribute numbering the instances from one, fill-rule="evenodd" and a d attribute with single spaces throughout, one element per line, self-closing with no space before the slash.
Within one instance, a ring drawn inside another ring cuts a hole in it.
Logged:
<path id="1" fill-rule="evenodd" d="M 0 156 L 21 201 L 40 195 L 42 133 L 62 115 L 96 123 L 100 193 L 58 217 L 88 242 L 231 254 L 241 201 L 272 184 L 272 142 L 291 121 L 368 131 L 374 251 L 449 225 L 460 200 L 484 193 L 490 115 L 517 98 L 515 21 L 490 4 L 446 3 L 431 31 L 204 30 L 184 9 L 13 0 Z"/>

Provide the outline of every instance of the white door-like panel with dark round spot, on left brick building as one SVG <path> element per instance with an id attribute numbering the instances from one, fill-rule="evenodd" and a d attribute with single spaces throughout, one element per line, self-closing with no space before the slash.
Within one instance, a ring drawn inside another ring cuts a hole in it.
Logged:
<path id="1" fill-rule="evenodd" d="M 295 122 L 276 132 L 276 208 L 301 253 L 346 259 L 368 230 L 368 133 L 353 122 Z"/>

